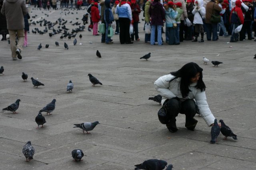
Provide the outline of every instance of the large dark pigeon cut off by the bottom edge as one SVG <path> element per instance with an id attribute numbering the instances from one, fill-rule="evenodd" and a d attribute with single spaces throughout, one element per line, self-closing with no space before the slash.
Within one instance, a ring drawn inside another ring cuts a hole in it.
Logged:
<path id="1" fill-rule="evenodd" d="M 165 160 L 149 159 L 145 160 L 142 164 L 134 165 L 134 170 L 163 170 L 167 165 Z"/>

